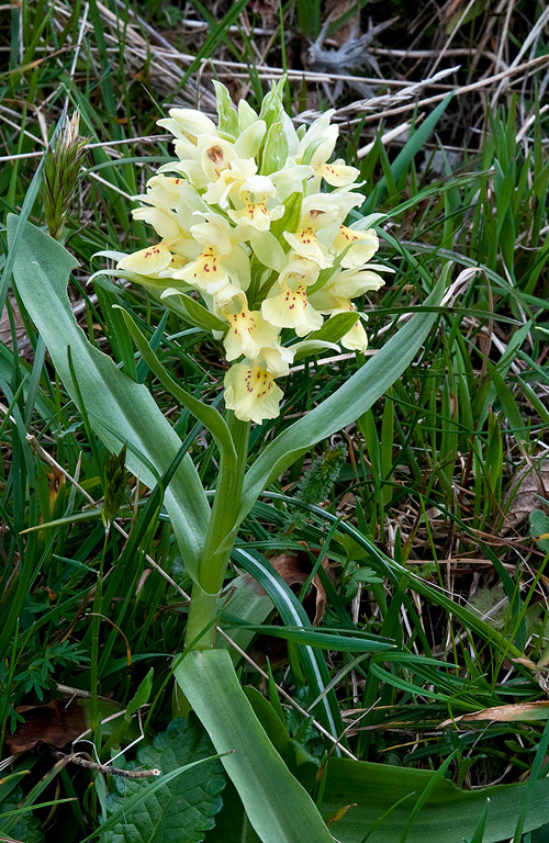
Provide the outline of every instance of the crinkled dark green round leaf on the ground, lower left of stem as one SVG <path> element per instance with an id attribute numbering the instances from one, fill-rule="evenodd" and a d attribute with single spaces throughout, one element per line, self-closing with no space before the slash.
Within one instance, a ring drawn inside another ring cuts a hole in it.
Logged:
<path id="1" fill-rule="evenodd" d="M 163 774 L 215 754 L 204 730 L 194 721 L 172 720 L 165 732 L 156 735 L 150 746 L 142 746 L 137 762 L 128 768 L 158 768 Z M 114 779 L 116 793 L 107 799 L 109 813 L 124 809 L 139 790 L 150 787 L 150 779 Z M 109 843 L 200 843 L 215 824 L 221 810 L 221 791 L 225 786 L 223 767 L 217 760 L 192 767 L 150 798 L 143 799 L 109 830 Z"/>

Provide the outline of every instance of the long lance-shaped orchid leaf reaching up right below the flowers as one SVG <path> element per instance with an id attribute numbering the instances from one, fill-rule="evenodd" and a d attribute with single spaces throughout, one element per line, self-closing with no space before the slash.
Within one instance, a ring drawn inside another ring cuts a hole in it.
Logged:
<path id="1" fill-rule="evenodd" d="M 444 268 L 426 306 L 440 304 L 450 263 Z M 317 407 L 285 428 L 262 449 L 244 480 L 238 520 L 249 513 L 269 483 L 306 453 L 313 445 L 350 425 L 380 398 L 412 362 L 432 329 L 437 313 L 416 313 L 352 378 Z"/>

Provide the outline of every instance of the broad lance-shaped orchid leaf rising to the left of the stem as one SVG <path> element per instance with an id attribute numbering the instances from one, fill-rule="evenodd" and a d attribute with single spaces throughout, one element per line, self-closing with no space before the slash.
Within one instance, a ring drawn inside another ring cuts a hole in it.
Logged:
<path id="1" fill-rule="evenodd" d="M 8 240 L 13 243 L 18 217 L 8 217 Z M 127 378 L 113 361 L 90 345 L 77 325 L 67 296 L 67 279 L 78 266 L 75 258 L 36 226 L 26 223 L 16 246 L 13 274 L 23 303 L 38 328 L 57 373 L 76 401 L 67 347 L 91 425 L 111 451 L 127 442 L 127 467 L 148 486 L 176 458 L 181 441 L 164 418 L 144 384 Z M 143 456 L 144 460 L 139 459 Z M 165 493 L 166 509 L 191 576 L 204 543 L 210 505 L 189 456 Z"/>

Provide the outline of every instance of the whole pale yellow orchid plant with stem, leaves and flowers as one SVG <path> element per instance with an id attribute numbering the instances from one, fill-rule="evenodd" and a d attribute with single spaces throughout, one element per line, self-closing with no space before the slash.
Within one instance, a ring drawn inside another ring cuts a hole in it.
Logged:
<path id="1" fill-rule="evenodd" d="M 128 255 L 102 252 L 115 267 L 97 273 L 143 285 L 184 323 L 217 340 L 227 363 L 224 413 L 166 371 L 130 311 L 122 311 L 149 370 L 215 441 L 220 470 L 212 504 L 147 387 L 91 346 L 77 326 L 66 294 L 74 258 L 22 217 L 10 217 L 9 238 L 19 292 L 67 391 L 111 451 L 127 447 L 127 468 L 159 491 L 170 517 L 193 581 L 186 647 L 175 666 L 186 705 L 219 753 L 236 750 L 223 764 L 261 841 L 328 843 L 328 828 L 273 749 L 227 650 L 219 647 L 221 594 L 238 528 L 258 497 L 400 376 L 435 322 L 433 305 L 440 302 L 446 272 L 425 311 L 328 398 L 282 425 L 247 465 L 250 426 L 279 416 L 281 379 L 299 359 L 326 349 L 330 355 L 366 350 L 366 316 L 355 300 L 378 290 L 380 272 L 391 271 L 371 262 L 380 216 L 361 218 L 356 212 L 363 202 L 359 171 L 330 161 L 338 135 L 330 113 L 295 130 L 282 106 L 283 85 L 265 97 L 259 114 L 245 101 L 235 109 L 216 83 L 216 124 L 189 109 L 172 109 L 159 121 L 175 137 L 176 157 L 148 181 L 133 212 L 154 228 L 154 243 Z M 348 225 L 351 212 L 355 222 Z M 243 620 L 246 611 L 245 599 Z"/>

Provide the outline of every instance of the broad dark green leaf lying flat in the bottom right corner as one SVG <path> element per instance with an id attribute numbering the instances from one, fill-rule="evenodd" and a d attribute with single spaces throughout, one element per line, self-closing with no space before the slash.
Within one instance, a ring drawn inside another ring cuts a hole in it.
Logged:
<path id="1" fill-rule="evenodd" d="M 367 840 L 368 843 L 400 843 L 416 802 L 436 776 L 429 771 L 330 758 L 322 813 L 329 819 L 345 806 L 354 805 L 330 829 L 341 843 L 360 843 L 372 825 L 395 806 Z M 473 791 L 460 790 L 442 778 L 428 793 L 407 833 L 406 843 L 425 843 L 426 840 L 458 843 L 463 836 L 472 838 L 485 810 L 486 798 L 490 799 L 490 810 L 483 843 L 509 840 L 515 832 L 526 787 L 497 785 Z M 549 779 L 536 782 L 525 832 L 547 822 L 548 799 Z"/>

